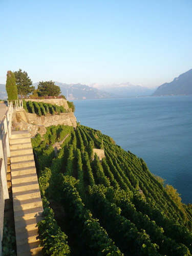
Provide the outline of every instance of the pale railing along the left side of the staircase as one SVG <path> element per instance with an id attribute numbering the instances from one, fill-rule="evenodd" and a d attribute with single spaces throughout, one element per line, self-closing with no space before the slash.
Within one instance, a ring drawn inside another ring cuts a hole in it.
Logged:
<path id="1" fill-rule="evenodd" d="M 11 137 L 12 106 L 8 106 L 2 122 L 0 123 L 0 175 L 2 181 L 4 200 L 9 199 L 7 187 L 7 166 L 10 157 L 9 138 Z"/>

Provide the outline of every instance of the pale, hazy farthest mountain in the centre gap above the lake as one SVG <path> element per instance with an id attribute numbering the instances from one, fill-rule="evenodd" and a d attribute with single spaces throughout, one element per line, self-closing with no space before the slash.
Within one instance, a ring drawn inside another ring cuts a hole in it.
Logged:
<path id="1" fill-rule="evenodd" d="M 91 87 L 103 90 L 108 93 L 116 94 L 118 97 L 136 97 L 136 96 L 150 96 L 157 88 L 147 88 L 143 86 L 134 86 L 130 82 L 120 84 L 101 85 L 98 83 L 91 84 Z"/>

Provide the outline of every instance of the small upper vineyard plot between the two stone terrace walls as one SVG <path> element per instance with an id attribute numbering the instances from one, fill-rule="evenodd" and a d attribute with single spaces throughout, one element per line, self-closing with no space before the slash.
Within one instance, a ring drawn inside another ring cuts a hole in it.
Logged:
<path id="1" fill-rule="evenodd" d="M 67 101 L 69 109 L 72 110 L 72 112 L 75 111 L 75 106 L 73 102 Z M 23 99 L 23 106 L 27 113 L 36 114 L 38 116 L 46 116 L 48 114 L 50 115 L 60 115 L 60 113 L 66 113 L 68 112 L 66 109 L 63 108 L 63 106 L 58 106 L 56 104 L 52 105 L 50 103 L 45 102 L 36 102 L 36 101 L 25 101 Z"/>

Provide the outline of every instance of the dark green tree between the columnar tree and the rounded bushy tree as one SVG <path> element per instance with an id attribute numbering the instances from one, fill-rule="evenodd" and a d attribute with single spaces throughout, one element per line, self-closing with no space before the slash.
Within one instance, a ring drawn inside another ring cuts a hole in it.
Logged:
<path id="1" fill-rule="evenodd" d="M 35 87 L 32 86 L 32 81 L 29 78 L 26 71 L 22 72 L 22 70 L 19 69 L 19 71 L 15 71 L 14 74 L 15 74 L 18 94 L 23 99 L 23 96 L 26 96 L 32 93 L 35 90 Z"/>

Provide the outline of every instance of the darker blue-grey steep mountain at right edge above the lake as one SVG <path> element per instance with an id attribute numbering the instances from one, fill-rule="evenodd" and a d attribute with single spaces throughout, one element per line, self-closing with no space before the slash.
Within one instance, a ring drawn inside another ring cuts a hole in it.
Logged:
<path id="1" fill-rule="evenodd" d="M 163 83 L 152 96 L 191 95 L 192 69 L 176 77 L 172 82 Z"/>

